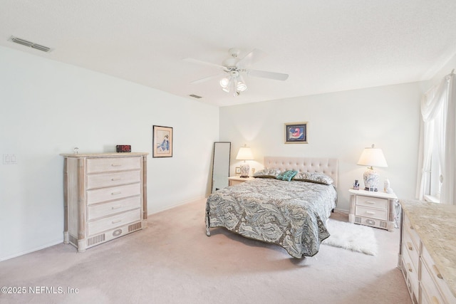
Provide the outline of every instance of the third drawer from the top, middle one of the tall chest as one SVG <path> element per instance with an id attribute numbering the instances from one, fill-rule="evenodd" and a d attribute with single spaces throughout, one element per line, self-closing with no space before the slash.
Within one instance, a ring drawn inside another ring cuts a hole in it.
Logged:
<path id="1" fill-rule="evenodd" d="M 140 183 L 126 184 L 118 187 L 93 189 L 87 191 L 87 204 L 96 204 L 102 201 L 125 199 L 125 197 L 141 194 Z"/>

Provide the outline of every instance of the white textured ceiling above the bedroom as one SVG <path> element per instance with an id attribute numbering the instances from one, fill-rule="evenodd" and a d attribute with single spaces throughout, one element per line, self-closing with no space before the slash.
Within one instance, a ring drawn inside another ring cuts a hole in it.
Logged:
<path id="1" fill-rule="evenodd" d="M 0 46 L 185 98 L 234 105 L 431 78 L 456 52 L 456 1 L 0 0 Z M 50 53 L 9 41 L 24 38 Z M 218 79 L 191 84 L 229 48 L 267 56 L 234 97 Z M 450 71 L 449 71 L 450 72 Z"/>

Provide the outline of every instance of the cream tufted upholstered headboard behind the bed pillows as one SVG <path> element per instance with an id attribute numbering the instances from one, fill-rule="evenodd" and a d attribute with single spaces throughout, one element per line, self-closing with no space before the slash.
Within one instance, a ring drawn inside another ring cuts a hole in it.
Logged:
<path id="1" fill-rule="evenodd" d="M 285 170 L 297 170 L 300 172 L 321 172 L 334 181 L 337 187 L 338 159 L 322 157 L 264 157 L 264 168 Z"/>

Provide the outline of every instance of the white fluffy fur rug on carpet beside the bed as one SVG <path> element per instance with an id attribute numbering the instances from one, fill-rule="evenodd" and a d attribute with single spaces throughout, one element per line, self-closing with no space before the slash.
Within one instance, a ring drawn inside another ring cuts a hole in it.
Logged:
<path id="1" fill-rule="evenodd" d="M 377 241 L 372 227 L 334 219 L 329 219 L 327 225 L 326 229 L 328 229 L 331 236 L 321 243 L 366 253 L 371 256 L 377 254 Z"/>

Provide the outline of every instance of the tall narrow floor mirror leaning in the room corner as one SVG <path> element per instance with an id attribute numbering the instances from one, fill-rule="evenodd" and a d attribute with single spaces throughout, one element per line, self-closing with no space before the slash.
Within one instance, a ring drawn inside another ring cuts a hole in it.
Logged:
<path id="1" fill-rule="evenodd" d="M 214 142 L 212 162 L 212 193 L 228 187 L 231 142 Z"/>

